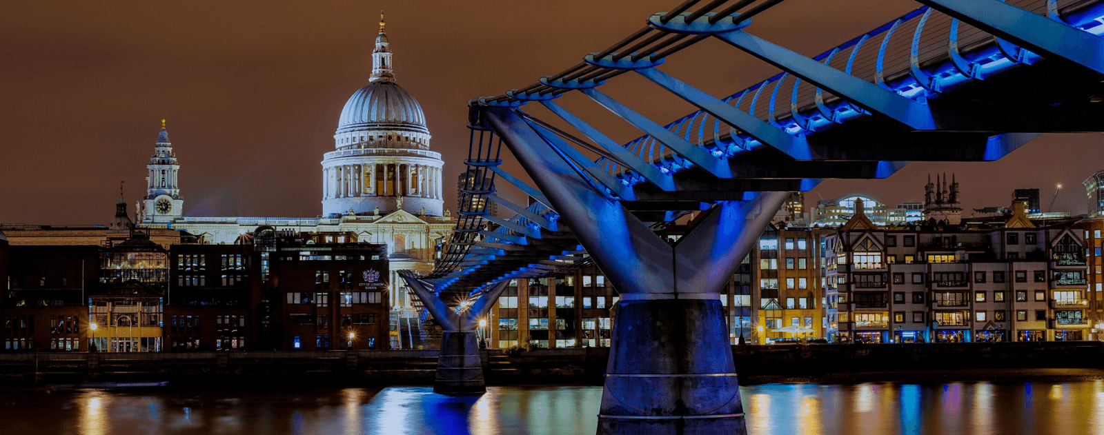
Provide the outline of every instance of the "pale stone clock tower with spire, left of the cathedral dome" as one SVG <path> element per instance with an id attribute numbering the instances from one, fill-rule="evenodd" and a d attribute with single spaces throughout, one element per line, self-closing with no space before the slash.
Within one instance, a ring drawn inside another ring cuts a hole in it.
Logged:
<path id="1" fill-rule="evenodd" d="M 169 141 L 169 130 L 161 119 L 161 131 L 153 145 L 153 156 L 146 166 L 146 197 L 142 199 L 141 223 L 160 225 L 181 216 L 184 200 L 180 198 L 180 165 Z"/>

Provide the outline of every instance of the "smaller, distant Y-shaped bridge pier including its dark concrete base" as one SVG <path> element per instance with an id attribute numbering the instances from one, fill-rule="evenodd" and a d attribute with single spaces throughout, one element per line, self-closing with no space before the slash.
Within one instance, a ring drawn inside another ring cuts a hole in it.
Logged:
<path id="1" fill-rule="evenodd" d="M 478 298 L 471 297 L 457 307 L 447 306 L 424 282 L 403 277 L 433 318 L 445 329 L 440 336 L 437 356 L 437 374 L 433 382 L 435 393 L 482 393 L 487 391 L 484 379 L 482 352 L 476 328 L 495 306 L 508 279 L 495 284 Z"/>

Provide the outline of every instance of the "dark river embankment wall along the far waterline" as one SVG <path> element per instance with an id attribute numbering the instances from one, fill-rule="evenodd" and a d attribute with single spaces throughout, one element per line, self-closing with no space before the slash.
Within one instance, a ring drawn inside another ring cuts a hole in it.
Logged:
<path id="1" fill-rule="evenodd" d="M 489 385 L 601 385 L 606 348 L 485 352 Z M 741 382 L 854 383 L 1104 379 L 1104 343 L 733 347 Z M 0 388 L 170 381 L 173 385 L 429 385 L 437 351 L 4 353 Z"/>

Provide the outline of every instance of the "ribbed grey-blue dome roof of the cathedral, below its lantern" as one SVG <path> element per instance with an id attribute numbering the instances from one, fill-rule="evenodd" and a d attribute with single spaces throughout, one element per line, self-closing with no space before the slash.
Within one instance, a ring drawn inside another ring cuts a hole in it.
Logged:
<path id="1" fill-rule="evenodd" d="M 373 81 L 349 97 L 338 120 L 337 134 L 357 130 L 410 128 L 429 132 L 422 105 L 392 81 Z"/>

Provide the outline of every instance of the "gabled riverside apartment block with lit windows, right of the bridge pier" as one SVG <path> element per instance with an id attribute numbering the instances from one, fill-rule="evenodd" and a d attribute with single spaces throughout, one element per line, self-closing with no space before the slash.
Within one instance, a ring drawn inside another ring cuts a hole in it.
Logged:
<path id="1" fill-rule="evenodd" d="M 879 226 L 856 208 L 825 237 L 828 338 L 837 342 L 1069 341 L 1090 338 L 1084 232 L 1004 222 Z"/>

